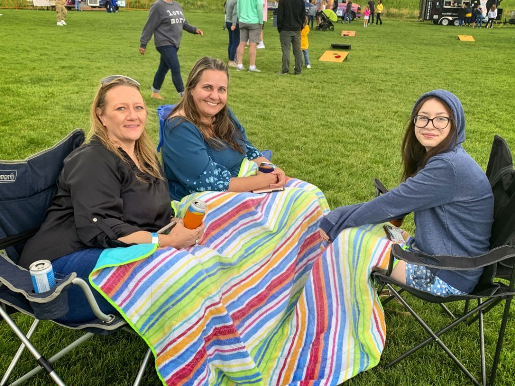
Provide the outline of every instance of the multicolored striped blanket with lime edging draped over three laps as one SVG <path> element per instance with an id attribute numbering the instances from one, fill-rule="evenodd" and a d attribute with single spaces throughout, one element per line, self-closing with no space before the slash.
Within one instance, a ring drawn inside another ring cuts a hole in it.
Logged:
<path id="1" fill-rule="evenodd" d="M 151 347 L 163 384 L 336 385 L 379 361 L 385 324 L 369 275 L 390 242 L 369 226 L 322 249 L 325 198 L 287 186 L 176 203 L 180 217 L 207 202 L 198 247 L 102 253 L 90 282 Z"/>

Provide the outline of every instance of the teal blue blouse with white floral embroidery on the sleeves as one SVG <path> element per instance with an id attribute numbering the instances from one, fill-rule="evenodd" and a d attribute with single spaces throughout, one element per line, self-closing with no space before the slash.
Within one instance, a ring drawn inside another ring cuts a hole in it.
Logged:
<path id="1" fill-rule="evenodd" d="M 236 141 L 244 153 L 224 144 L 213 148 L 191 121 L 176 116 L 166 120 L 163 132 L 163 163 L 172 200 L 206 190 L 226 191 L 231 178 L 237 177 L 244 158 L 253 160 L 263 154 L 249 142 L 245 129 L 229 110 Z"/>

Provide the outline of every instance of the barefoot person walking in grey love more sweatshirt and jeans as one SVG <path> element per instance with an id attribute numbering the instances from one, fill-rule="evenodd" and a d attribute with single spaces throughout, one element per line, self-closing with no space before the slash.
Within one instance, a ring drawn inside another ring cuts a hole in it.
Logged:
<path id="1" fill-rule="evenodd" d="M 147 43 L 153 34 L 154 44 L 161 58 L 151 87 L 152 94 L 150 96 L 152 98 L 163 99 L 159 92 L 168 70 L 171 72 L 171 80 L 174 82 L 177 93 L 182 96 L 184 92 L 181 66 L 177 57 L 183 29 L 187 32 L 204 36 L 200 29 L 192 26 L 184 18 L 182 7 L 179 3 L 173 0 L 157 0 L 150 6 L 148 20 L 141 32 L 139 50 L 141 55 L 145 55 Z"/>

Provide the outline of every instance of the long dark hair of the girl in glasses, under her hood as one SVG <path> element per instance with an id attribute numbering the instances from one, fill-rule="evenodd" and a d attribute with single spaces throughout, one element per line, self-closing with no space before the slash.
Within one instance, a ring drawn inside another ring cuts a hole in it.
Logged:
<path id="1" fill-rule="evenodd" d="M 451 117 L 451 130 L 442 142 L 440 142 L 437 146 L 430 149 L 429 151 L 426 151 L 425 147 L 422 146 L 415 135 L 415 116 L 419 113 L 422 105 L 430 99 L 436 99 L 443 104 L 445 111 L 447 111 Z M 417 174 L 417 172 L 425 166 L 427 160 L 429 160 L 431 157 L 440 153 L 445 153 L 456 146 L 456 138 L 456 120 L 454 119 L 454 114 L 452 113 L 447 103 L 435 96 L 428 96 L 421 99 L 417 106 L 415 106 L 413 114 L 411 114 L 411 117 L 406 124 L 406 132 L 404 133 L 404 139 L 402 141 L 401 148 L 403 163 L 403 173 L 401 180 L 406 181 L 409 177 L 415 176 L 415 174 Z"/>

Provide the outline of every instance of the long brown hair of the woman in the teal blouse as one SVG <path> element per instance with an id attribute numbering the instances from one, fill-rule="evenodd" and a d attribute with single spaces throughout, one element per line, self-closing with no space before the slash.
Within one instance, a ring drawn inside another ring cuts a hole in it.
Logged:
<path id="1" fill-rule="evenodd" d="M 200 81 L 202 73 L 207 69 L 224 72 L 227 76 L 227 82 L 229 83 L 229 69 L 224 61 L 210 57 L 200 58 L 193 65 L 190 75 L 188 75 L 181 101 L 177 103 L 177 106 L 170 115 L 168 115 L 168 118 L 175 112 L 182 110 L 183 115 L 181 116 L 197 126 L 203 137 L 215 149 L 222 149 L 227 144 L 231 149 L 244 153 L 242 146 L 236 141 L 237 138 L 241 138 L 241 134 L 239 134 L 239 131 L 236 130 L 233 122 L 229 119 L 227 104 L 214 116 L 212 125 L 203 123 L 200 118 L 200 113 L 195 106 L 192 92 Z"/>

